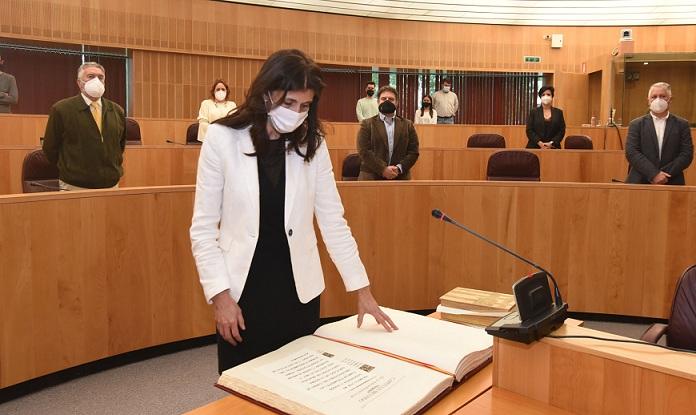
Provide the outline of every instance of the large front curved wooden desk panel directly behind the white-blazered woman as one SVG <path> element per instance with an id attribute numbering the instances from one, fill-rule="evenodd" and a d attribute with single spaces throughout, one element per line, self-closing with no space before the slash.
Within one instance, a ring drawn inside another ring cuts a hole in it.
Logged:
<path id="1" fill-rule="evenodd" d="M 553 272 L 573 311 L 666 317 L 696 259 L 696 188 L 339 183 L 380 303 L 435 308 L 455 286 L 509 291 L 530 267 L 430 216 L 439 208 Z M 0 388 L 212 334 L 190 251 L 193 186 L 0 196 Z M 321 249 L 322 315 L 354 314 Z"/>

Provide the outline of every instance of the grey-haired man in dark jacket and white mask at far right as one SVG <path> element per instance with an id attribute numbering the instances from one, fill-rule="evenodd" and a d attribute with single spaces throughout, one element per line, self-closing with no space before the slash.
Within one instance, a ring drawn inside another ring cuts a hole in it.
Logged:
<path id="1" fill-rule="evenodd" d="M 685 184 L 684 169 L 694 157 L 689 123 L 669 113 L 672 87 L 666 82 L 648 90 L 650 112 L 628 126 L 626 183 Z"/>

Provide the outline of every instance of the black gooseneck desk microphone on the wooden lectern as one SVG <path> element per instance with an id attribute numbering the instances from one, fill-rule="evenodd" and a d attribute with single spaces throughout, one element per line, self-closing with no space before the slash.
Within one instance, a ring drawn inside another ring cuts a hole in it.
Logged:
<path id="1" fill-rule="evenodd" d="M 486 327 L 488 334 L 528 344 L 563 325 L 568 315 L 568 304 L 563 302 L 556 279 L 550 272 L 509 248 L 461 225 L 438 209 L 434 209 L 432 215 L 467 231 L 540 271 L 520 279 L 512 286 L 517 310 Z M 554 285 L 554 302 L 551 302 L 548 278 L 551 278 Z"/>

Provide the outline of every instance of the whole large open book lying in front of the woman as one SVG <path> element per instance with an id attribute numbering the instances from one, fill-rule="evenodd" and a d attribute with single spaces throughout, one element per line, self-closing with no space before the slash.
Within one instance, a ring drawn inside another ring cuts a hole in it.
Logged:
<path id="1" fill-rule="evenodd" d="M 414 414 L 489 361 L 483 329 L 383 308 L 388 333 L 366 316 L 326 324 L 226 370 L 218 386 L 289 414 Z"/>

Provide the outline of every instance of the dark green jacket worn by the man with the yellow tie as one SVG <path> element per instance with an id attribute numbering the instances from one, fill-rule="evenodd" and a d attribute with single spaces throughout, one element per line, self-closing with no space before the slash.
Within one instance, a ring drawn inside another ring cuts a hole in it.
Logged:
<path id="1" fill-rule="evenodd" d="M 62 181 L 99 189 L 123 176 L 126 117 L 118 104 L 102 98 L 102 134 L 82 95 L 58 101 L 46 124 L 43 151 L 58 166 Z"/>

